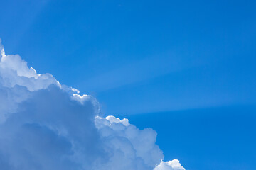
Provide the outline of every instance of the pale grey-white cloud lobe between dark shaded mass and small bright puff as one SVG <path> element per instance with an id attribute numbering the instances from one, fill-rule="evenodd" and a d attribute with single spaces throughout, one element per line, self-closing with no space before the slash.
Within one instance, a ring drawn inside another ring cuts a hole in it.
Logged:
<path id="1" fill-rule="evenodd" d="M 164 158 L 155 144 L 156 132 L 150 128 L 139 130 L 127 119 L 119 120 L 114 116 L 97 116 L 95 125 L 100 130 L 104 148 L 111 151 L 106 169 L 113 166 L 117 169 L 152 169 Z"/>

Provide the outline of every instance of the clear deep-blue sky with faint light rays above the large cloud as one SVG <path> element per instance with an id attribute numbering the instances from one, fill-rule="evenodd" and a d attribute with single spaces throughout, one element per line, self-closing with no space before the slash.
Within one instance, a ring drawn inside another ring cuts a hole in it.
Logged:
<path id="1" fill-rule="evenodd" d="M 154 128 L 166 159 L 255 169 L 255 1 L 0 4 L 6 53 Z"/>

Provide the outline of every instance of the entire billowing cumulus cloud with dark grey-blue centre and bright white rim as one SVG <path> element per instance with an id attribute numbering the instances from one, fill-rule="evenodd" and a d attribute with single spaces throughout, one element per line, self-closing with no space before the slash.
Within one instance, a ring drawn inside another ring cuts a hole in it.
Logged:
<path id="1" fill-rule="evenodd" d="M 5 170 L 184 170 L 163 162 L 156 132 L 103 118 L 97 100 L 38 74 L 0 40 L 0 167 Z"/>

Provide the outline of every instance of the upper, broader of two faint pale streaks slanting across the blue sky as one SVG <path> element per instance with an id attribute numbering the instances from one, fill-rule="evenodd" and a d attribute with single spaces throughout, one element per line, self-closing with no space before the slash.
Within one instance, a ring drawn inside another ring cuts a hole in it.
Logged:
<path id="1" fill-rule="evenodd" d="M 90 91 L 106 91 L 116 89 L 127 84 L 134 84 L 139 81 L 154 79 L 164 74 L 171 72 L 179 72 L 183 69 L 195 67 L 198 63 L 181 63 L 180 59 L 173 53 L 168 53 L 163 56 L 147 57 L 142 60 L 130 62 L 111 69 L 109 72 L 97 74 L 95 77 L 90 77 L 86 81 L 80 81 L 79 84 Z M 100 83 L 99 83 L 99 80 Z M 90 82 L 90 84 L 87 83 Z"/>

